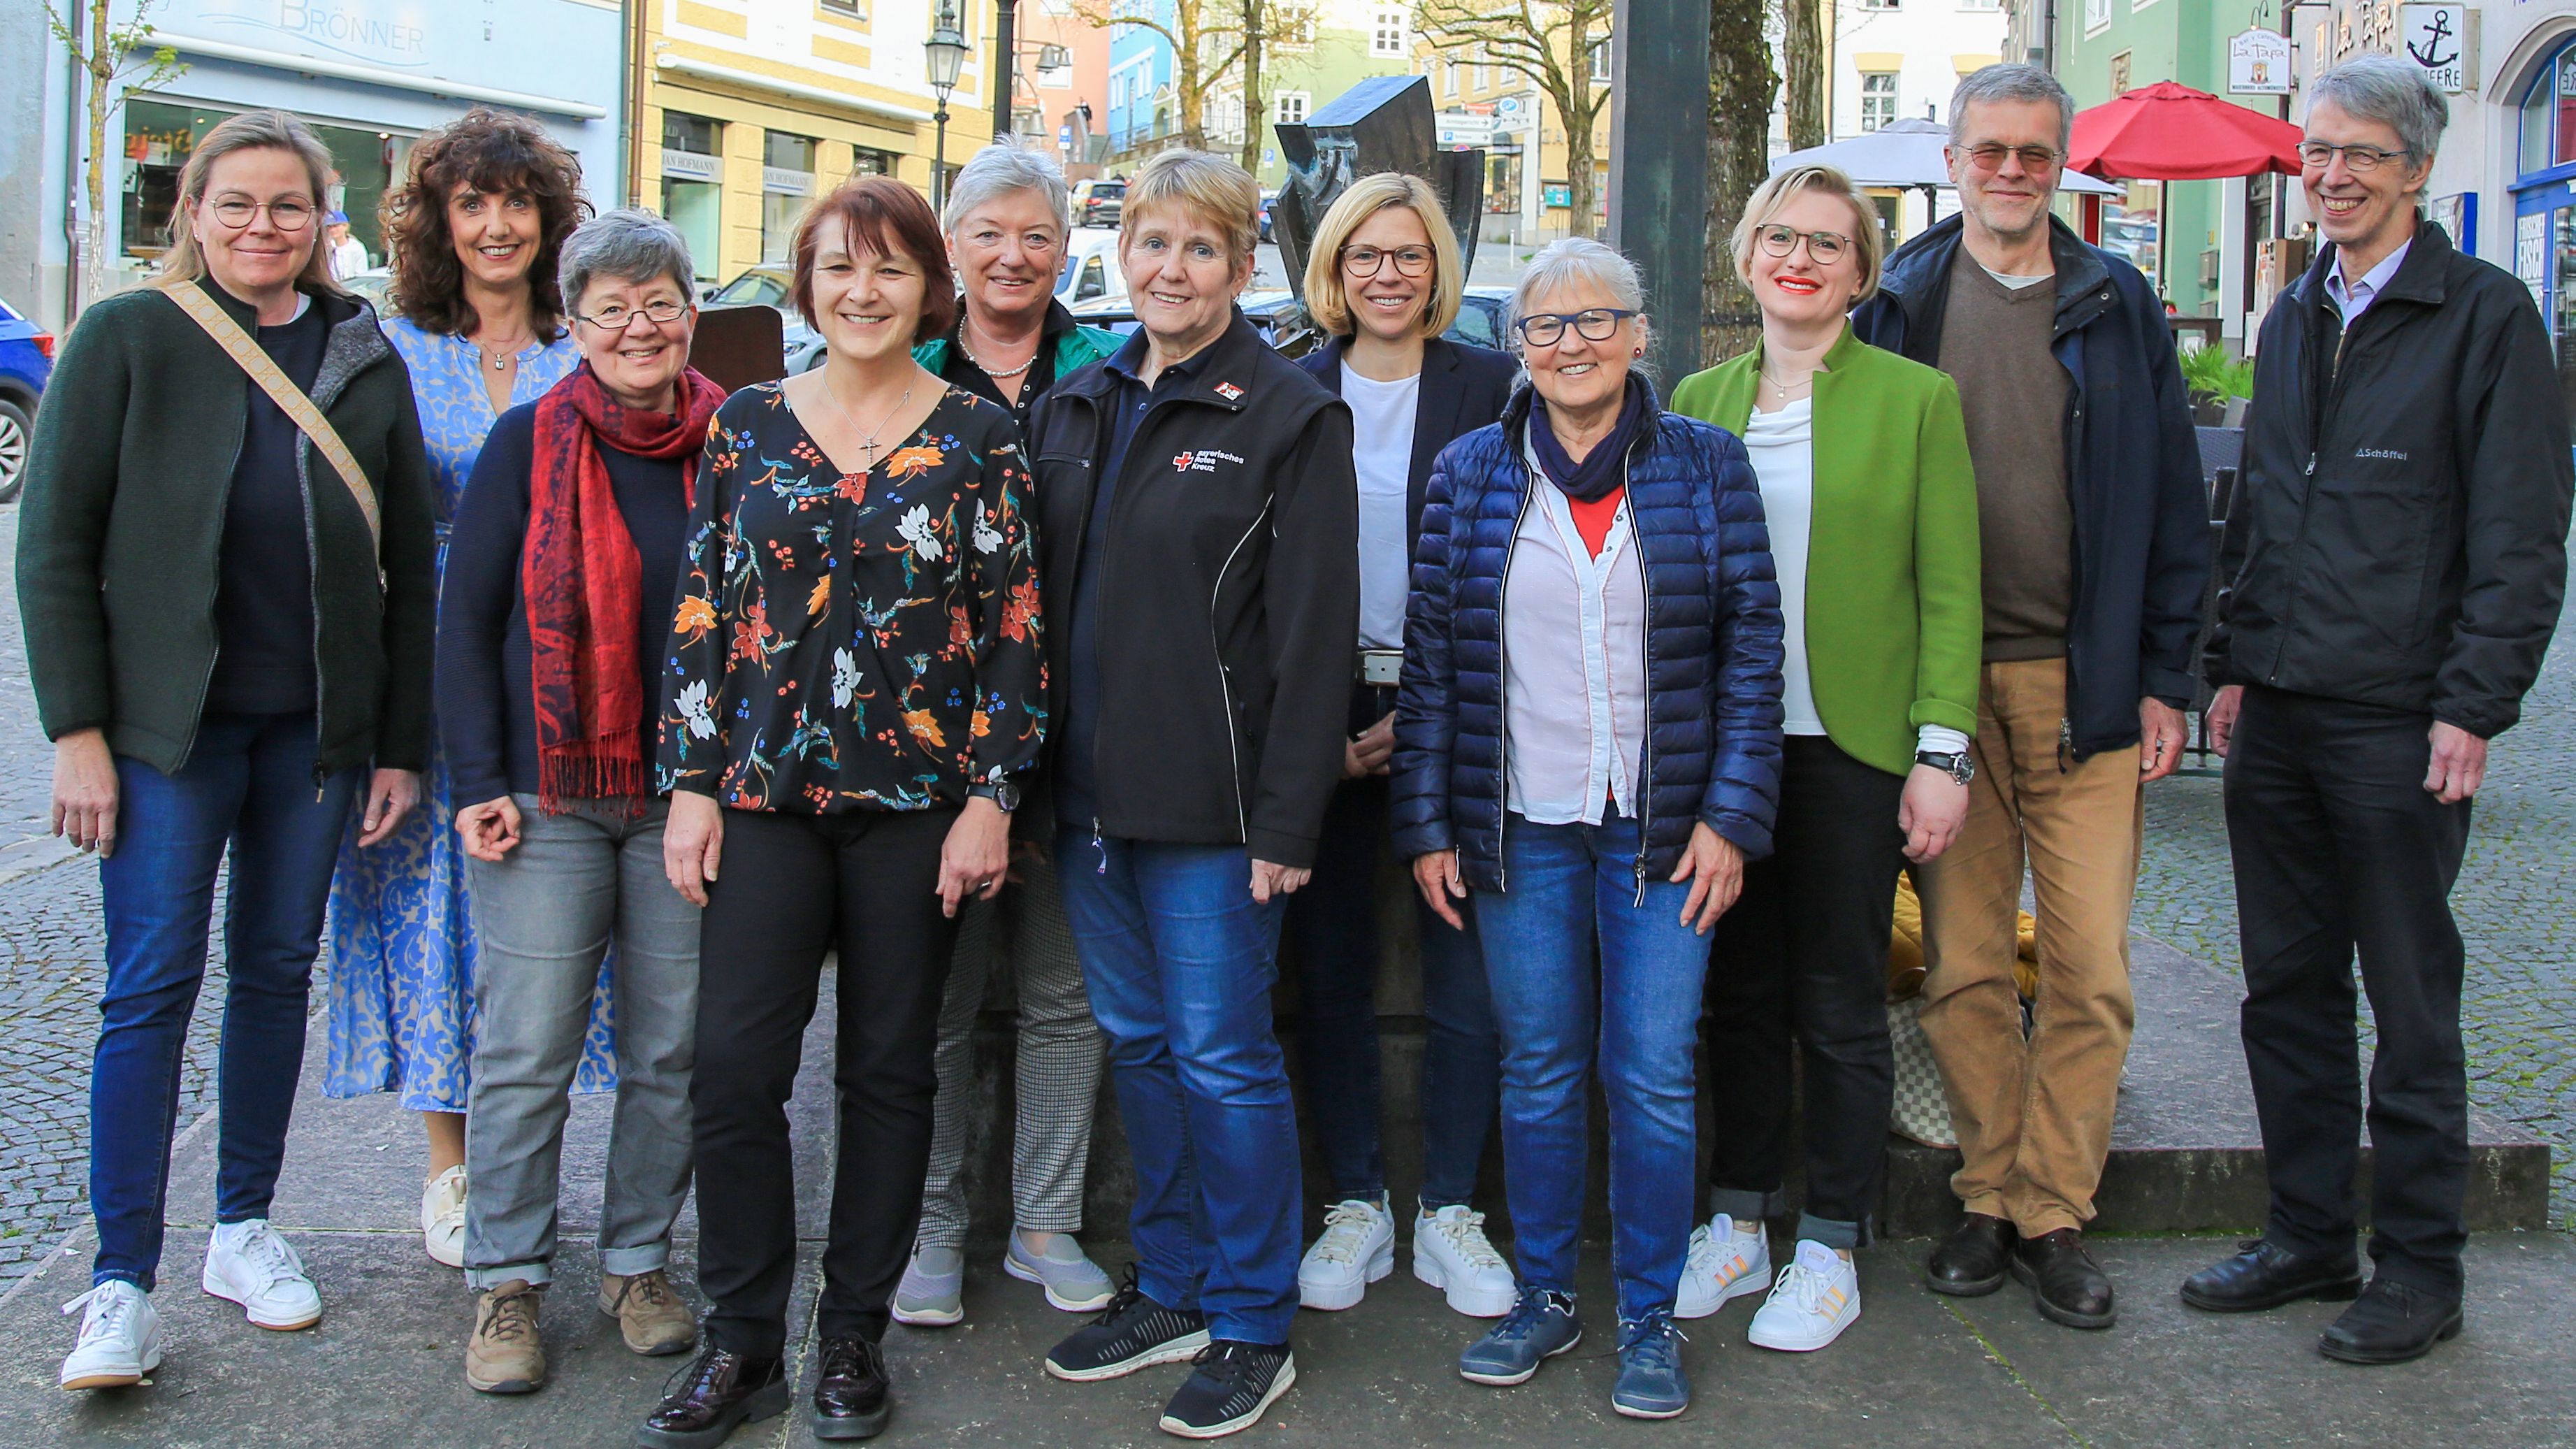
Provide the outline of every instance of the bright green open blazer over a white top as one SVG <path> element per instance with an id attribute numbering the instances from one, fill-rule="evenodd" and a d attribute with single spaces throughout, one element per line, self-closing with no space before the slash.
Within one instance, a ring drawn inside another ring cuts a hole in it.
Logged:
<path id="1" fill-rule="evenodd" d="M 1682 379 L 1672 410 L 1741 436 L 1762 351 Z M 1806 547 L 1806 676 L 1826 737 L 1891 773 L 1914 727 L 1976 737 L 1986 647 L 1976 472 L 1950 374 L 1844 327 L 1816 374 L 1816 505 Z"/>

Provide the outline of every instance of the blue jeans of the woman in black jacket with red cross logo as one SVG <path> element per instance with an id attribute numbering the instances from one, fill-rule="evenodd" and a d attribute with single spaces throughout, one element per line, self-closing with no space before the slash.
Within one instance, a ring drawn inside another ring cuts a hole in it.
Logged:
<path id="1" fill-rule="evenodd" d="M 1059 830 L 1056 879 L 1136 1163 L 1136 1284 L 1211 1338 L 1285 1343 L 1303 1194 L 1270 1029 L 1280 905 L 1242 846 Z"/>

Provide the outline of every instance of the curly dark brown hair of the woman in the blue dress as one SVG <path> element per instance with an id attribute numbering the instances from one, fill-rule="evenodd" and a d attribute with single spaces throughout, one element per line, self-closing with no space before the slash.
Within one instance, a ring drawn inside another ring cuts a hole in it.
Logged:
<path id="1" fill-rule="evenodd" d="M 523 191 L 536 201 L 538 242 L 528 263 L 528 302 L 538 340 L 564 335 L 564 297 L 554 263 L 564 237 L 590 217 L 582 196 L 582 162 L 544 126 L 513 111 L 477 106 L 412 147 L 402 186 L 384 193 L 384 237 L 394 268 L 394 312 L 415 325 L 461 335 L 474 327 L 466 302 L 464 263 L 448 232 L 448 196 L 459 186 L 474 191 Z"/>

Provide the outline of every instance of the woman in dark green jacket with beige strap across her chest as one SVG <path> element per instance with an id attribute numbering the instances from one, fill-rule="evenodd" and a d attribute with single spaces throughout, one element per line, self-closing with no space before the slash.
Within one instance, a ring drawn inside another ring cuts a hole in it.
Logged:
<path id="1" fill-rule="evenodd" d="M 198 1281 L 260 1328 L 322 1318 L 268 1199 L 343 825 L 358 810 L 374 846 L 420 797 L 435 614 L 412 384 L 314 248 L 330 178 L 330 152 L 283 111 L 206 131 L 160 278 L 80 317 L 36 420 L 18 608 L 54 740 L 54 830 L 98 851 L 108 936 L 90 1073 L 98 1258 L 75 1299 L 88 1315 L 62 1364 L 70 1390 L 160 1364 L 147 1294 L 227 848 L 224 1132 Z M 355 485 L 191 309 L 322 410 Z"/>

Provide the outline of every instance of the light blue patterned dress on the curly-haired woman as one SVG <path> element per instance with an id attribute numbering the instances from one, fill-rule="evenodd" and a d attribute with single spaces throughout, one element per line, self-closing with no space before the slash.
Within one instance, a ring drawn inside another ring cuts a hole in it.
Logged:
<path id="1" fill-rule="evenodd" d="M 384 335 L 412 369 L 420 438 L 438 474 L 438 567 L 448 518 L 497 415 L 484 392 L 482 348 L 392 317 Z M 582 361 L 572 338 L 518 353 L 510 402 L 536 402 Z M 448 761 L 430 745 L 420 810 L 379 846 L 358 848 L 358 820 L 340 841 L 330 887 L 330 1065 L 325 1096 L 402 1093 L 407 1111 L 464 1111 L 474 1062 L 474 918 L 466 853 L 456 841 Z M 572 1091 L 616 1091 L 608 972 L 590 995 L 590 1031 Z"/>

